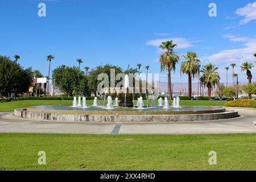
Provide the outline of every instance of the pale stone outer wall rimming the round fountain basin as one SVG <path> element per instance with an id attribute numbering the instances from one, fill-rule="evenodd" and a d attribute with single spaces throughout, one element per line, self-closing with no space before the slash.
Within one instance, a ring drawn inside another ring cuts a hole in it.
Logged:
<path id="1" fill-rule="evenodd" d="M 238 117 L 238 111 L 226 110 L 224 113 L 209 114 L 175 114 L 175 115 L 84 115 L 32 112 L 26 109 L 14 110 L 16 117 L 27 119 L 44 119 L 48 121 L 73 121 L 73 122 L 188 122 L 212 121 Z"/>

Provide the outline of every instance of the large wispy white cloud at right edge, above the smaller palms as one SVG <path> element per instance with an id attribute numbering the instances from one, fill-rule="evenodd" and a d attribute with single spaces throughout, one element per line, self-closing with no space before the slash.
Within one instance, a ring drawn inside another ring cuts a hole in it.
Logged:
<path id="1" fill-rule="evenodd" d="M 201 60 L 206 63 L 223 65 L 229 65 L 230 63 L 241 64 L 244 61 L 254 62 L 253 55 L 256 52 L 256 38 L 247 38 L 233 34 L 226 34 L 224 37 L 234 42 L 244 42 L 243 47 L 237 49 L 225 49 L 210 56 L 203 56 L 201 57 Z"/>

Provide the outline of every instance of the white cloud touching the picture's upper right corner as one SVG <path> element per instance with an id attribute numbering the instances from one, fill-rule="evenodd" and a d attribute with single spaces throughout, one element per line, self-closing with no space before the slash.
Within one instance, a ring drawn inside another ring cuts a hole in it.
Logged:
<path id="1" fill-rule="evenodd" d="M 244 19 L 240 20 L 240 24 L 246 24 L 251 20 L 256 20 L 256 2 L 249 3 L 245 7 L 237 9 L 236 14 L 238 16 L 245 16 Z"/>

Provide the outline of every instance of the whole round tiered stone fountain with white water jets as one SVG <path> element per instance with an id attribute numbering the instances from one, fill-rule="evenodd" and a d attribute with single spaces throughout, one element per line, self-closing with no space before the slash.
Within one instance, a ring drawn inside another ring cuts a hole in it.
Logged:
<path id="1" fill-rule="evenodd" d="M 223 107 L 181 107 L 179 97 L 174 98 L 172 107 L 169 106 L 167 97 L 164 98 L 164 103 L 163 98 L 159 98 L 158 105 L 156 105 L 155 95 L 151 89 L 142 88 L 141 82 L 139 82 L 139 88 L 130 87 L 130 85 L 129 76 L 125 75 L 124 84 L 121 88 L 102 88 L 100 97 L 94 97 L 92 106 L 86 105 L 86 97 L 82 97 L 81 105 L 80 96 L 77 104 L 77 97 L 75 96 L 72 107 L 67 105 L 33 106 L 21 110 L 16 109 L 14 115 L 29 119 L 90 122 L 208 121 L 238 116 L 237 111 L 226 111 Z M 142 92 L 144 90 L 146 92 Z M 112 105 L 112 98 L 115 98 L 114 105 Z M 135 98 L 138 98 L 137 105 L 134 105 Z M 145 105 L 143 98 L 146 98 Z M 105 105 L 106 101 L 107 104 Z"/>

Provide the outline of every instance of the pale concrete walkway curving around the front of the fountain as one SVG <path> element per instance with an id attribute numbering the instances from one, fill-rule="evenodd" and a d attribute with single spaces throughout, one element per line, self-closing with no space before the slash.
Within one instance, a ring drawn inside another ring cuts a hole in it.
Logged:
<path id="1" fill-rule="evenodd" d="M 185 123 L 92 123 L 52 122 L 16 118 L 0 112 L 0 133 L 62 134 L 228 134 L 255 133 L 256 110 L 238 109 L 241 117 Z"/>

